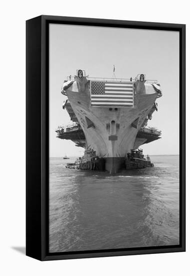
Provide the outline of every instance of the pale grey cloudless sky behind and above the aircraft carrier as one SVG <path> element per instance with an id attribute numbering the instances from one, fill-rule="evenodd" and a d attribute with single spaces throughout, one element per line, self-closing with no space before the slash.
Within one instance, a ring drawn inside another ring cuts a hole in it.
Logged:
<path id="1" fill-rule="evenodd" d="M 144 154 L 179 154 L 179 33 L 50 24 L 50 157 L 82 156 L 72 141 L 56 138 L 55 129 L 70 123 L 61 86 L 83 69 L 89 77 L 117 78 L 145 74 L 161 85 L 158 112 L 148 125 L 161 130 L 161 139 L 141 146 Z"/>

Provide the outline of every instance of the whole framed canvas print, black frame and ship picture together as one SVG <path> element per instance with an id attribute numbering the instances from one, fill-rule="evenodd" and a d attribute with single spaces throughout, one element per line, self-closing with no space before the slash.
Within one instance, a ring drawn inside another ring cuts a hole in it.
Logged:
<path id="1" fill-rule="evenodd" d="M 185 251 L 185 25 L 26 26 L 26 254 Z"/>

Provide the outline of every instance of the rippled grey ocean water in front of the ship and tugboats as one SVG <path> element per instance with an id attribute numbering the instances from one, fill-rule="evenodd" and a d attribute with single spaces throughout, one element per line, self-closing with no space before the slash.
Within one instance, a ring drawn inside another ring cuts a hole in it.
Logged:
<path id="1" fill-rule="evenodd" d="M 114 176 L 50 159 L 50 252 L 179 244 L 179 156 Z"/>

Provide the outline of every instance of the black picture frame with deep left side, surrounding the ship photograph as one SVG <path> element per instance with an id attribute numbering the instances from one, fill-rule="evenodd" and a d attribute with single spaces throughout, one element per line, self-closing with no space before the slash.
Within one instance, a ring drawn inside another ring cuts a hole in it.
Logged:
<path id="1" fill-rule="evenodd" d="M 179 245 L 49 253 L 50 23 L 179 32 Z M 39 260 L 57 260 L 185 251 L 185 25 L 39 16 L 26 22 L 26 31 L 26 254 Z"/>

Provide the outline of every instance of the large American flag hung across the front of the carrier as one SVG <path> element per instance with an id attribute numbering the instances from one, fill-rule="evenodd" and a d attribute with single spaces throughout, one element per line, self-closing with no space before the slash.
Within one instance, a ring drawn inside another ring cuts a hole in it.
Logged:
<path id="1" fill-rule="evenodd" d="M 92 106 L 133 106 L 133 83 L 91 81 Z"/>

